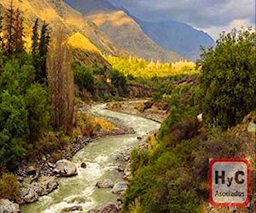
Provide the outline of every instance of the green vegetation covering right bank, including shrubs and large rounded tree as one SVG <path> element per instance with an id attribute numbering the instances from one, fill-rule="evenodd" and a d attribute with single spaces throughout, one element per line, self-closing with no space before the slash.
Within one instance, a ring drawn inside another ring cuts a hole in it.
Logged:
<path id="1" fill-rule="evenodd" d="M 165 99 L 170 116 L 149 141 L 149 151 L 131 153 L 124 212 L 200 212 L 208 199 L 209 158 L 245 157 L 253 146 L 244 124 L 225 129 L 256 109 L 255 33 L 222 35 L 200 63 L 196 84 L 172 83 Z M 207 125 L 196 119 L 200 112 Z"/>

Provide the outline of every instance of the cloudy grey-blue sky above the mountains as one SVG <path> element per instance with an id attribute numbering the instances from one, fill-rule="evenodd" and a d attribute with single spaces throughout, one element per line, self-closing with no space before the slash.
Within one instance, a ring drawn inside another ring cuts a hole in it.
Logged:
<path id="1" fill-rule="evenodd" d="M 253 26 L 255 0 L 110 0 L 143 20 L 177 20 L 210 34 Z M 153 15 L 154 14 L 154 15 Z"/>

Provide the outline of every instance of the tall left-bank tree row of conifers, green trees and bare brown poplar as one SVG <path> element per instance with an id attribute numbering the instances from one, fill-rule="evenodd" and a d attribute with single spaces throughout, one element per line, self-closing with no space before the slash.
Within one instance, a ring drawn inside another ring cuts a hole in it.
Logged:
<path id="1" fill-rule="evenodd" d="M 11 1 L 0 18 L 0 172 L 15 170 L 45 132 L 70 134 L 73 127 L 73 72 L 65 37 L 35 20 L 32 47 L 26 49 L 23 22 Z"/>

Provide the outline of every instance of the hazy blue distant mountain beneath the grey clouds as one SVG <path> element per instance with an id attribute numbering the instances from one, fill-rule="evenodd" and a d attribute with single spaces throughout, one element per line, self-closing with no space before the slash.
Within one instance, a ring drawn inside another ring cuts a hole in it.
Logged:
<path id="1" fill-rule="evenodd" d="M 206 32 L 198 31 L 192 26 L 169 20 L 165 22 L 137 23 L 148 37 L 166 50 L 172 50 L 189 60 L 196 60 L 201 53 L 201 46 L 214 46 L 214 40 Z"/>

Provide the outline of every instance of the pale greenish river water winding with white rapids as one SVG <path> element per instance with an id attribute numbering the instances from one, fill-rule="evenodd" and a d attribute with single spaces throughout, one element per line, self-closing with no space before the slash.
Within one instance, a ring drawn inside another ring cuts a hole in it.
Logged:
<path id="1" fill-rule="evenodd" d="M 122 150 L 136 146 L 138 136 L 142 137 L 151 130 L 158 130 L 160 124 L 134 115 L 111 112 L 105 107 L 106 105 L 94 106 L 91 112 L 99 116 L 118 118 L 125 125 L 132 127 L 135 134 L 108 136 L 90 142 L 73 157 L 79 175 L 61 178 L 58 189 L 40 197 L 36 203 L 21 206 L 22 213 L 59 213 L 63 208 L 74 205 L 82 206 L 83 210 L 78 212 L 88 212 L 101 204 L 116 201 L 117 196 L 111 189 L 97 188 L 96 182 L 106 178 L 114 183 L 123 181 L 122 173 L 116 170 L 115 157 Z M 80 167 L 82 162 L 86 163 L 86 169 Z"/>

